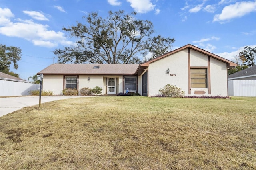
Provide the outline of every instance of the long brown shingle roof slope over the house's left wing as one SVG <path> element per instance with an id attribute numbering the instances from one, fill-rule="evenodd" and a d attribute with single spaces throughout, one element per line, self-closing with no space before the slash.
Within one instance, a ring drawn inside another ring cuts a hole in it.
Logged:
<path id="1" fill-rule="evenodd" d="M 99 66 L 99 68 L 94 68 Z M 139 64 L 52 64 L 37 74 L 44 75 L 134 75 Z"/>

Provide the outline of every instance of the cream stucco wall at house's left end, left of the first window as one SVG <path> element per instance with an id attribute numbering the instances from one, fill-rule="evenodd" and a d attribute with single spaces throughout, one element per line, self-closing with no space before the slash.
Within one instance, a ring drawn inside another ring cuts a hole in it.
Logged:
<path id="1" fill-rule="evenodd" d="M 53 92 L 54 95 L 62 95 L 63 76 L 44 75 L 43 90 L 50 90 Z"/>

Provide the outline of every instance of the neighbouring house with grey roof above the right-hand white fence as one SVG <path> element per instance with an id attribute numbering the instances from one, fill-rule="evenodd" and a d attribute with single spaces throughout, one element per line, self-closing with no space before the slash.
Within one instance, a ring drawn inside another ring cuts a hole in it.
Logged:
<path id="1" fill-rule="evenodd" d="M 256 80 L 256 66 L 230 74 L 228 80 Z"/>

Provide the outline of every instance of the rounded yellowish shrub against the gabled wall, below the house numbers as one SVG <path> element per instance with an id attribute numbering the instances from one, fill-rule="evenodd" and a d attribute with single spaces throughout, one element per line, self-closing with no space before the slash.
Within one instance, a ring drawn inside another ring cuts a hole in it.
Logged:
<path id="1" fill-rule="evenodd" d="M 159 90 L 160 95 L 165 97 L 180 98 L 183 97 L 185 92 L 181 88 L 174 85 L 166 84 L 164 88 Z"/>

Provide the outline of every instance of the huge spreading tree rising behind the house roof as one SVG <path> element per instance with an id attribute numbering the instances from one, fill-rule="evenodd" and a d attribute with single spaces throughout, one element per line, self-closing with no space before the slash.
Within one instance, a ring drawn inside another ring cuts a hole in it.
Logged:
<path id="1" fill-rule="evenodd" d="M 58 63 L 140 63 L 139 57 L 151 54 L 150 59 L 171 50 L 173 38 L 153 37 L 153 24 L 135 18 L 136 12 L 108 12 L 103 19 L 97 12 L 88 14 L 86 22 L 63 28 L 78 39 L 75 47 L 56 49 Z"/>

